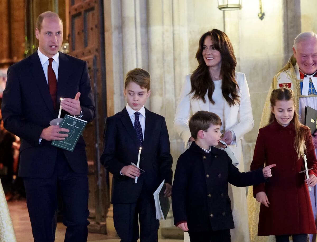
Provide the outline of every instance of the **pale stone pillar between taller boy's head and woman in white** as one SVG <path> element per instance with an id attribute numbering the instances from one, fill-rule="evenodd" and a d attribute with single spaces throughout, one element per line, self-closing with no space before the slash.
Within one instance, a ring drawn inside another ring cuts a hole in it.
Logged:
<path id="1" fill-rule="evenodd" d="M 148 6 L 149 72 L 151 74 L 151 111 L 166 119 L 174 137 L 175 115 L 173 4 L 170 0 L 150 1 Z M 171 212 L 160 227 L 173 225 Z"/>

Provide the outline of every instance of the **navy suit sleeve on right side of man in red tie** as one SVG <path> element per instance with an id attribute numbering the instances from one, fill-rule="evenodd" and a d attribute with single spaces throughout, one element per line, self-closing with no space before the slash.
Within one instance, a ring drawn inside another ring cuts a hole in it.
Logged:
<path id="1" fill-rule="evenodd" d="M 81 119 L 87 121 L 87 123 L 91 122 L 96 116 L 94 95 L 90 83 L 91 81 L 88 75 L 88 65 L 85 61 L 78 92 L 81 93 L 79 97 L 79 101 L 83 111 L 83 116 L 81 117 Z"/>

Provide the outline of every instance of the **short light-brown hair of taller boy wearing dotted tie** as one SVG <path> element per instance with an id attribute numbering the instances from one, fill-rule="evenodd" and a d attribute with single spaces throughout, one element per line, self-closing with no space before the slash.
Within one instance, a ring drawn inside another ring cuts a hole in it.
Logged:
<path id="1" fill-rule="evenodd" d="M 130 82 L 135 82 L 142 88 L 146 88 L 148 91 L 150 90 L 150 74 L 141 68 L 135 68 L 128 73 L 126 73 L 126 79 L 124 81 L 124 87 L 128 86 Z"/>

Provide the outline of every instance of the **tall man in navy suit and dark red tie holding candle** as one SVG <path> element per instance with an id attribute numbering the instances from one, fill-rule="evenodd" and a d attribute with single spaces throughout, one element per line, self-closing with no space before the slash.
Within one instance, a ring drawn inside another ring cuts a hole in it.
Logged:
<path id="1" fill-rule="evenodd" d="M 23 177 L 34 241 L 55 240 L 57 194 L 63 200 L 65 241 L 87 241 L 88 179 L 85 142 L 74 151 L 51 145 L 67 129 L 49 122 L 65 114 L 91 122 L 94 98 L 87 63 L 59 52 L 63 25 L 53 12 L 36 21 L 36 53 L 8 69 L 3 92 L 4 127 L 21 137 L 19 176 Z M 64 98 L 60 102 L 60 98 Z"/>

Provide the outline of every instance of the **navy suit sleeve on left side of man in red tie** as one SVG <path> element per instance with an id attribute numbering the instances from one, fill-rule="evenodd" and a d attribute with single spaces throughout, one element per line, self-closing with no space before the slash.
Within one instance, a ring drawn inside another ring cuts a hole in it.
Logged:
<path id="1" fill-rule="evenodd" d="M 45 127 L 23 119 L 21 96 L 20 80 L 16 70 L 14 67 L 9 67 L 1 106 L 4 128 L 33 145 L 39 145 L 39 138 Z"/>

